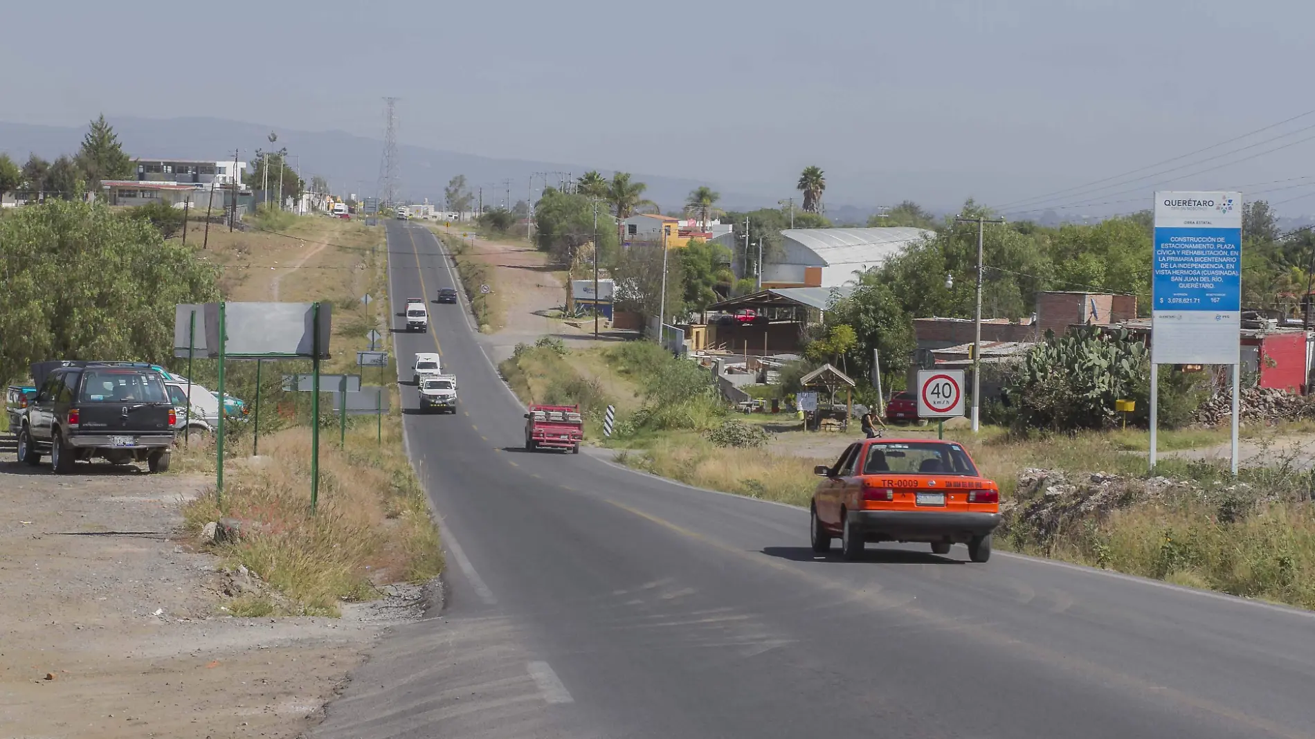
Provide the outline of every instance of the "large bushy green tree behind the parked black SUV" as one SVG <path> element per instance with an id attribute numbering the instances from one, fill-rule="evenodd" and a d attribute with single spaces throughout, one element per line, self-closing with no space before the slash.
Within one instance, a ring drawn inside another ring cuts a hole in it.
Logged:
<path id="1" fill-rule="evenodd" d="M 218 297 L 218 270 L 149 222 L 47 201 L 0 218 L 0 384 L 32 362 L 172 355 L 174 305 Z"/>

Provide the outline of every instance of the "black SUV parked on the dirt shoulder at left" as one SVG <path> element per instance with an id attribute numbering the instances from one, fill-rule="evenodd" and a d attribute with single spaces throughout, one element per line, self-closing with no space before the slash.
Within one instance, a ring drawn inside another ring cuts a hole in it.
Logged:
<path id="1" fill-rule="evenodd" d="M 49 454 L 55 475 L 97 456 L 168 469 L 178 418 L 155 371 L 114 362 L 60 362 L 46 370 L 34 366 L 38 391 L 20 418 L 20 462 L 36 465 Z"/>

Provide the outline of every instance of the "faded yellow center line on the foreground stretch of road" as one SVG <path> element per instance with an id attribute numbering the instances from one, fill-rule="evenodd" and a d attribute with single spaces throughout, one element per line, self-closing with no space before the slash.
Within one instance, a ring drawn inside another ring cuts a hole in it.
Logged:
<path id="1" fill-rule="evenodd" d="M 994 629 L 990 629 L 989 626 L 985 625 L 949 618 L 939 613 L 930 611 L 918 605 L 914 605 L 913 596 L 905 597 L 902 594 L 896 594 L 896 593 L 882 593 L 881 585 L 876 583 L 869 583 L 865 586 L 865 589 L 855 592 L 851 585 L 847 585 L 838 580 L 832 580 L 826 575 L 809 572 L 798 567 L 788 565 L 785 563 L 763 556 L 761 552 L 742 550 L 732 547 L 730 544 L 725 544 L 718 539 L 714 539 L 711 536 L 705 536 L 702 534 L 698 534 L 697 531 L 690 531 L 689 529 L 685 529 L 682 526 L 672 523 L 671 521 L 667 521 L 665 518 L 659 518 L 656 515 L 652 515 L 651 513 L 644 513 L 626 504 L 617 502 L 609 498 L 601 498 L 601 500 L 614 505 L 621 510 L 625 510 L 626 513 L 643 518 L 651 523 L 661 526 L 663 529 L 667 529 L 676 534 L 680 534 L 681 536 L 686 536 L 689 539 L 702 542 L 710 547 L 715 547 L 722 552 L 732 555 L 743 561 L 748 561 L 756 565 L 767 565 L 771 567 L 772 569 L 776 569 L 777 572 L 788 573 L 801 580 L 806 580 L 810 584 L 819 586 L 825 590 L 843 594 L 847 597 L 848 601 L 863 602 L 878 610 L 902 611 L 906 615 L 915 618 L 919 625 L 939 626 L 944 631 L 959 631 L 968 635 L 968 638 L 976 639 L 978 642 L 992 643 L 1013 655 L 1023 656 L 1032 661 L 1059 668 L 1061 671 L 1076 672 L 1086 677 L 1088 680 L 1093 680 L 1095 682 L 1116 684 L 1124 690 L 1140 694 L 1143 697 L 1156 696 L 1156 697 L 1169 698 L 1182 705 L 1191 706 L 1202 713 L 1214 714 L 1219 718 L 1232 721 L 1241 726 L 1249 726 L 1252 730 L 1260 730 L 1266 734 L 1272 734 L 1274 736 L 1282 736 L 1285 739 L 1310 739 L 1311 736 L 1311 734 L 1307 734 L 1303 730 L 1293 728 L 1290 726 L 1283 726 L 1281 723 L 1269 721 L 1268 718 L 1264 717 L 1251 715 L 1240 709 L 1222 706 L 1216 701 L 1206 700 L 1199 696 L 1193 696 L 1191 693 L 1184 693 L 1182 690 L 1177 690 L 1166 685 L 1151 682 L 1141 677 L 1119 672 L 1115 668 L 1081 659 L 1069 652 L 1061 652 L 1039 643 L 1031 643 L 1015 639 L 1006 634 L 1001 634 L 999 631 L 995 631 Z"/>

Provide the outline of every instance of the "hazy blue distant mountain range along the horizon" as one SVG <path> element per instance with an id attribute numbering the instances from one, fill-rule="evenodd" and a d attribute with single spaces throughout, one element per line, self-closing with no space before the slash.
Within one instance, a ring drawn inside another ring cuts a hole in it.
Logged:
<path id="1" fill-rule="evenodd" d="M 239 149 L 239 159 L 251 162 L 256 149 L 288 147 L 288 163 L 297 167 L 310 181 L 312 175 L 329 180 L 338 193 L 375 195 L 383 142 L 345 131 L 279 130 L 279 141 L 267 141 L 271 128 L 259 124 L 227 121 L 222 118 L 133 118 L 110 120 L 124 150 L 134 158 L 178 159 L 233 159 Z M 29 154 L 53 159 L 60 154 L 74 154 L 82 145 L 84 128 L 46 126 L 0 122 L 0 151 L 9 154 L 20 164 Z M 441 203 L 443 188 L 455 175 L 466 175 L 472 191 L 484 185 L 485 205 L 506 200 L 510 180 L 512 203 L 525 200 L 533 172 L 571 172 L 580 176 L 590 167 L 560 162 L 530 162 L 523 159 L 496 159 L 455 151 L 438 151 L 421 146 L 398 146 L 402 195 L 417 203 L 429 199 Z M 610 176 L 610 171 L 604 171 Z M 663 210 L 679 209 L 689 191 L 698 185 L 717 183 L 665 178 L 634 172 L 634 179 L 647 183 L 646 197 L 656 201 Z M 556 185 L 558 175 L 550 175 L 548 184 Z M 493 185 L 492 183 L 498 183 Z M 535 178 L 535 188 L 542 187 Z M 776 206 L 776 200 L 753 192 L 722 192 L 722 206 L 752 209 Z M 535 196 L 538 189 L 535 189 Z M 865 220 L 865 218 L 864 218 Z"/>

